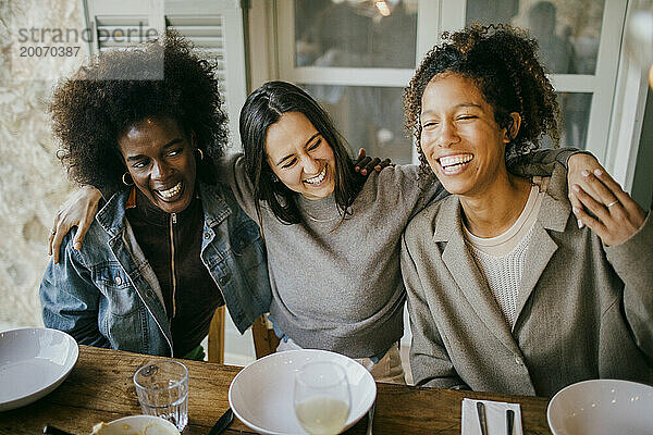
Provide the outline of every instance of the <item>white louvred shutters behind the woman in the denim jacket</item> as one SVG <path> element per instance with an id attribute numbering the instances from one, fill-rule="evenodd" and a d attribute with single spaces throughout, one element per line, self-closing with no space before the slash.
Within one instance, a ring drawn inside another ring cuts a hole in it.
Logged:
<path id="1" fill-rule="evenodd" d="M 239 147 L 238 116 L 247 96 L 243 10 L 237 0 L 83 0 L 85 26 L 95 33 L 91 53 L 125 49 L 165 28 L 193 41 L 215 62 L 231 141 Z"/>

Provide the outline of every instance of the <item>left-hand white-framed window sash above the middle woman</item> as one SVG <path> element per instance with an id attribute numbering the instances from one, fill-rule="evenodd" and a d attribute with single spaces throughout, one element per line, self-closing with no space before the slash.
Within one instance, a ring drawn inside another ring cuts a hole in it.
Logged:
<path id="1" fill-rule="evenodd" d="M 436 2 L 280 0 L 279 76 L 305 87 L 353 150 L 410 163 L 403 89 L 434 28 Z"/>

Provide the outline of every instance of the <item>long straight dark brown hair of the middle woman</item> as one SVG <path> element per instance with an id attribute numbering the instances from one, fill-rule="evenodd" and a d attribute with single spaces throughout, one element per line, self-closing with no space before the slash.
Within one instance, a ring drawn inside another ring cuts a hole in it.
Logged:
<path id="1" fill-rule="evenodd" d="M 241 110 L 241 141 L 245 151 L 245 170 L 254 185 L 254 196 L 260 222 L 260 201 L 266 201 L 276 219 L 284 224 L 301 222 L 296 192 L 275 178 L 268 163 L 266 136 L 268 128 L 286 112 L 305 115 L 326 140 L 335 158 L 335 203 L 343 217 L 360 191 L 360 181 L 353 170 L 348 147 L 333 122 L 307 92 L 286 82 L 269 82 L 251 92 Z M 261 223 L 262 227 L 262 223 Z"/>

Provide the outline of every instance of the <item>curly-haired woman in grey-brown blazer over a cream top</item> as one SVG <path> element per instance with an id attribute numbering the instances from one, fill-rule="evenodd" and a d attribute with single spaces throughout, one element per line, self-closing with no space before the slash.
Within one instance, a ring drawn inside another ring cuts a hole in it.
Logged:
<path id="1" fill-rule="evenodd" d="M 651 213 L 603 171 L 583 174 L 597 200 L 572 186 L 584 211 L 562 169 L 506 167 L 557 139 L 535 41 L 507 26 L 454 33 L 426 55 L 405 108 L 421 169 L 453 194 L 402 243 L 416 383 L 538 396 L 589 378 L 652 383 Z"/>

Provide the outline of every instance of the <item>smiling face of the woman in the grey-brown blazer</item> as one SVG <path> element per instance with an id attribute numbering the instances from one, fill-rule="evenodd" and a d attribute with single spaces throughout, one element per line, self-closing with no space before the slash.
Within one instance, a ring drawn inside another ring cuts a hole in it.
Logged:
<path id="1" fill-rule="evenodd" d="M 420 114 L 421 148 L 451 194 L 473 196 L 506 173 L 506 128 L 494 119 L 476 83 L 454 73 L 434 76 L 424 89 Z M 520 117 L 512 113 L 516 130 Z"/>

